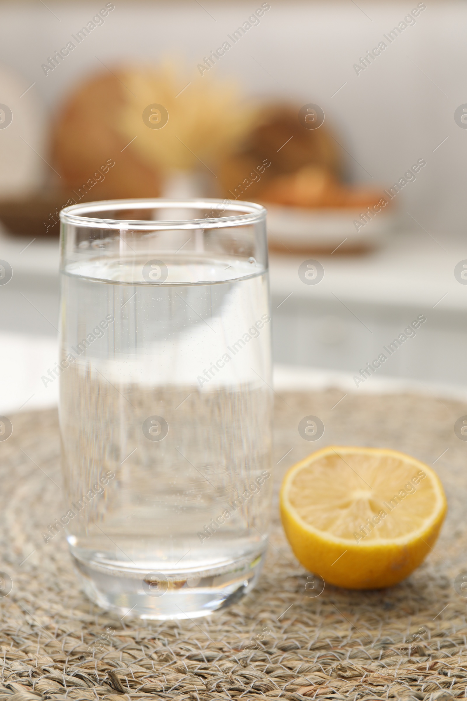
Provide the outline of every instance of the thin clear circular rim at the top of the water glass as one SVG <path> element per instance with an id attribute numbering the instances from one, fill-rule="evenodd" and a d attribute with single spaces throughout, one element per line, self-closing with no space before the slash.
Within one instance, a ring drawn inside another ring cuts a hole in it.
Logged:
<path id="1" fill-rule="evenodd" d="M 124 209 L 153 209 L 158 207 L 180 207 L 200 209 L 213 209 L 227 211 L 239 211 L 241 214 L 230 217 L 208 217 L 204 219 L 104 219 L 101 217 L 85 216 L 93 212 L 109 212 L 111 210 Z M 64 207 L 60 211 L 60 221 L 64 224 L 84 226 L 89 229 L 137 229 L 137 230 L 162 230 L 162 229 L 222 229 L 224 226 L 245 226 L 257 224 L 265 219 L 267 210 L 263 205 L 254 202 L 237 202 L 236 200 L 221 200 L 216 198 L 130 198 L 123 200 L 96 200 L 77 205 Z"/>

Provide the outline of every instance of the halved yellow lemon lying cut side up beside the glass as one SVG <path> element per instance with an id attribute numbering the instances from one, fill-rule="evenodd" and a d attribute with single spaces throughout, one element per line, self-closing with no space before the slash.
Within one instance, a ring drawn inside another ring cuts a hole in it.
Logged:
<path id="1" fill-rule="evenodd" d="M 288 470 L 280 506 L 300 563 L 349 589 L 407 577 L 433 548 L 447 510 L 428 465 L 389 449 L 332 446 Z"/>

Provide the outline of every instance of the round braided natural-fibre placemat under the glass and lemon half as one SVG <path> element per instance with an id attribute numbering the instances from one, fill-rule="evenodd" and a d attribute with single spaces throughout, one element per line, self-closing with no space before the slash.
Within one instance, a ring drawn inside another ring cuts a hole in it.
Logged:
<path id="1" fill-rule="evenodd" d="M 0 598 L 0 701 L 467 696 L 467 599 L 454 585 L 467 569 L 467 442 L 454 433 L 467 406 L 432 395 L 342 394 L 276 397 L 277 484 L 289 465 L 328 443 L 406 451 L 434 463 L 445 485 L 449 515 L 435 551 L 391 589 L 326 585 L 313 597 L 276 496 L 258 587 L 193 621 L 120 620 L 90 604 L 63 533 L 47 544 L 41 537 L 62 513 L 56 412 L 11 416 L 13 435 L 0 442 L 0 581 L 12 581 Z M 326 427 L 316 443 L 298 433 L 310 414 Z"/>

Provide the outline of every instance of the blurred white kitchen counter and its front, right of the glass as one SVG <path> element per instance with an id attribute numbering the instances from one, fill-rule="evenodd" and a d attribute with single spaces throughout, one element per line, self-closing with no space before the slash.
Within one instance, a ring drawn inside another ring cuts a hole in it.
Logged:
<path id="1" fill-rule="evenodd" d="M 467 285 L 454 278 L 467 243 L 447 234 L 438 241 L 421 230 L 394 234 L 366 256 L 317 257 L 325 270 L 318 285 L 298 277 L 313 256 L 273 255 L 275 360 L 353 376 L 424 314 L 417 336 L 377 374 L 467 386 Z"/>

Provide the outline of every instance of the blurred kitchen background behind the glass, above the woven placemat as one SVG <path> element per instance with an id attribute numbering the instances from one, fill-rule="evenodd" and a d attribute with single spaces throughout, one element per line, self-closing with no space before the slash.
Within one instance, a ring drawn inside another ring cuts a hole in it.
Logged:
<path id="1" fill-rule="evenodd" d="M 267 206 L 277 388 L 465 396 L 466 21 L 460 1 L 0 3 L 0 412 L 57 402 L 60 209 L 148 196 Z"/>

